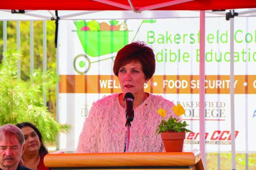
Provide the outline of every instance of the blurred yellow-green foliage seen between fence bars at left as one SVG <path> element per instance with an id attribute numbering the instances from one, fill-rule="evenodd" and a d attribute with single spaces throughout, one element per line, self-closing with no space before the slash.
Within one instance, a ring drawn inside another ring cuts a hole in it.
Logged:
<path id="1" fill-rule="evenodd" d="M 29 79 L 30 74 L 30 26 L 33 24 L 33 55 L 35 69 L 43 69 L 43 21 L 20 21 L 20 77 Z M 46 21 L 47 70 L 56 70 L 55 21 Z M 17 51 L 17 21 L 7 21 L 7 49 Z M 18 51 L 17 51 L 18 52 Z M 3 21 L 0 21 L 0 54 L 3 53 Z M 55 116 L 56 88 L 46 92 L 48 109 Z"/>

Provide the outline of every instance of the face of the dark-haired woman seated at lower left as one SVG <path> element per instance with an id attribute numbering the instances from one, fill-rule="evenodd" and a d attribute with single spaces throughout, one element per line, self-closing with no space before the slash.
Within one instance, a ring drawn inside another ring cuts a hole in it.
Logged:
<path id="1" fill-rule="evenodd" d="M 37 132 L 31 127 L 22 128 L 22 132 L 25 137 L 25 151 L 23 154 L 38 152 L 41 144 Z"/>

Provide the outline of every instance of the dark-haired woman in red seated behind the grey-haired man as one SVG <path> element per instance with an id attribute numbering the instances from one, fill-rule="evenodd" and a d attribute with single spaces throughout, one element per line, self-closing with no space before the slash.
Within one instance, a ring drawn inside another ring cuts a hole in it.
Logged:
<path id="1" fill-rule="evenodd" d="M 37 127 L 29 122 L 18 123 L 16 126 L 25 137 L 25 150 L 20 164 L 32 170 L 49 170 L 50 168 L 44 166 L 44 156 L 48 151 Z"/>

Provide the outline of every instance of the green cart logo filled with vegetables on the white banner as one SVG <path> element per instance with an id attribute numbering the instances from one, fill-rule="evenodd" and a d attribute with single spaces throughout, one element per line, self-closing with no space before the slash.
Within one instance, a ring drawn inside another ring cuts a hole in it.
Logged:
<path id="1" fill-rule="evenodd" d="M 155 23 L 156 20 L 142 20 L 137 33 L 143 23 Z M 129 42 L 128 26 L 125 22 L 119 24 L 117 20 L 110 20 L 98 23 L 96 20 L 86 22 L 85 20 L 74 21 L 78 38 L 81 42 L 85 54 L 79 54 L 74 57 L 74 70 L 83 75 L 89 71 L 91 64 L 103 60 L 112 59 L 115 56 L 109 57 L 107 54 L 116 53 Z M 132 41 L 134 41 L 135 36 Z M 102 58 L 101 56 L 107 56 Z M 98 57 L 98 58 L 97 58 Z M 93 58 L 94 61 L 91 61 Z"/>

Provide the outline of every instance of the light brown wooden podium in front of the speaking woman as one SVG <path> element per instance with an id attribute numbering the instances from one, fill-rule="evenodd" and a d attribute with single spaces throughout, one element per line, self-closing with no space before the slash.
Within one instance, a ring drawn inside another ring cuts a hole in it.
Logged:
<path id="1" fill-rule="evenodd" d="M 60 153 L 58 151 L 46 154 L 44 164 L 52 169 L 204 170 L 198 150 L 157 153 Z"/>

